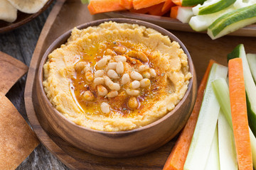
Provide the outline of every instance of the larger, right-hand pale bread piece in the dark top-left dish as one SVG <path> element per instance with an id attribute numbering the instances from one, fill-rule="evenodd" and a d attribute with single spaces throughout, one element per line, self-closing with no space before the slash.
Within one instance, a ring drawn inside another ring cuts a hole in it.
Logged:
<path id="1" fill-rule="evenodd" d="M 23 13 L 36 13 L 48 0 L 8 0 L 15 8 Z"/>

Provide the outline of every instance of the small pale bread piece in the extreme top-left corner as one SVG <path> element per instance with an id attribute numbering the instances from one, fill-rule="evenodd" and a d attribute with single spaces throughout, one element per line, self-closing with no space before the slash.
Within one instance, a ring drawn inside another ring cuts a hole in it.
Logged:
<path id="1" fill-rule="evenodd" d="M 17 18 L 17 9 L 7 0 L 0 0 L 0 20 L 12 23 Z"/>

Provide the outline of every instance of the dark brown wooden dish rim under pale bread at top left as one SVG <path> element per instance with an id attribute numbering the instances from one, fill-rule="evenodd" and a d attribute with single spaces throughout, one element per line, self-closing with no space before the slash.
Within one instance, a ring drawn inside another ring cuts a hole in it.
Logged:
<path id="1" fill-rule="evenodd" d="M 37 13 L 29 14 L 29 13 L 22 13 L 21 11 L 18 11 L 17 13 L 17 19 L 13 23 L 8 23 L 6 21 L 0 20 L 0 33 L 5 33 L 9 30 L 13 30 L 15 28 L 18 28 L 20 26 L 23 26 L 25 23 L 28 23 L 29 21 L 33 20 L 33 18 L 36 18 L 39 16 L 43 11 L 50 6 L 50 4 L 53 2 L 53 0 L 49 0 L 43 8 L 41 8 Z"/>

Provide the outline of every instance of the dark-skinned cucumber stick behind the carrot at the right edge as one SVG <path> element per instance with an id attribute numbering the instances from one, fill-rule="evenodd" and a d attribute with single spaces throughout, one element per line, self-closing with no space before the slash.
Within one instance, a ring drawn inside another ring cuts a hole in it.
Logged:
<path id="1" fill-rule="evenodd" d="M 256 136 L 256 86 L 255 82 L 253 81 L 252 74 L 250 72 L 249 64 L 247 62 L 244 45 L 238 45 L 237 47 L 235 47 L 233 52 L 228 54 L 228 59 L 235 57 L 242 58 L 242 69 L 245 79 L 248 121 L 253 134 Z"/>

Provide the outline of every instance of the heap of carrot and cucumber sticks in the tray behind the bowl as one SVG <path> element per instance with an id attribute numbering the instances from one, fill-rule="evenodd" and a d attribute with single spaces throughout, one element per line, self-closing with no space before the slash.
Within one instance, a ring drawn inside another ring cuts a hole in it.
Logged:
<path id="1" fill-rule="evenodd" d="M 170 16 L 193 30 L 207 30 L 213 40 L 256 23 L 256 0 L 81 0 L 90 13 L 129 10 Z"/>

